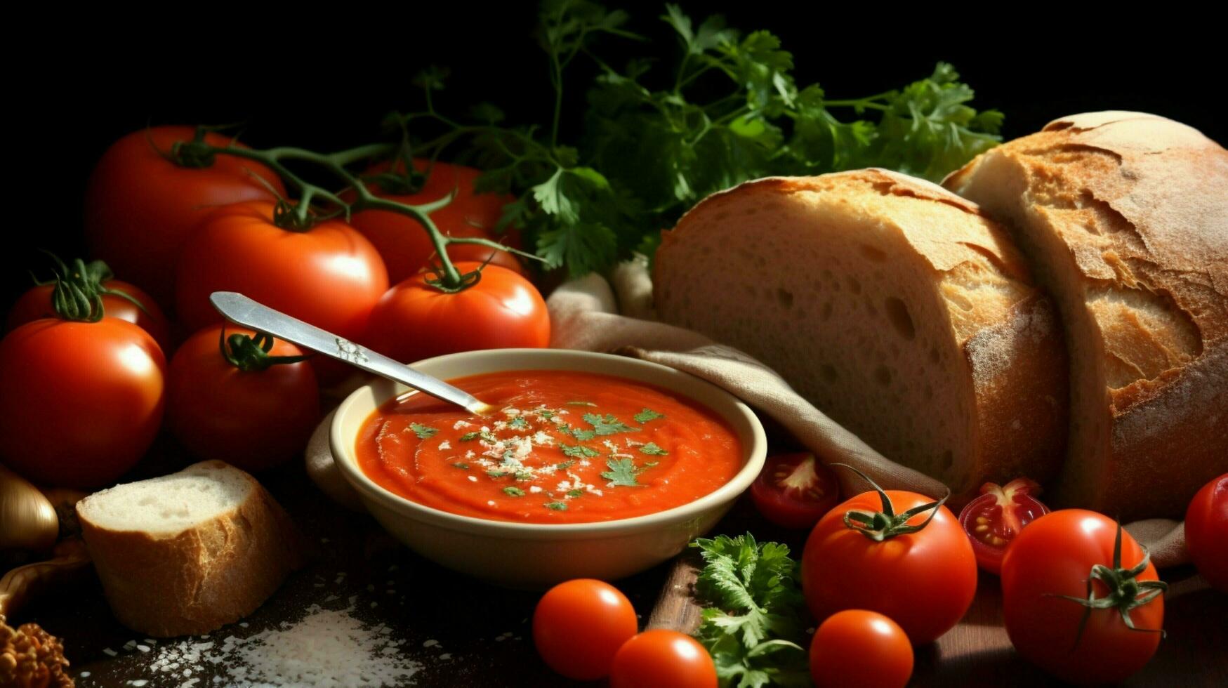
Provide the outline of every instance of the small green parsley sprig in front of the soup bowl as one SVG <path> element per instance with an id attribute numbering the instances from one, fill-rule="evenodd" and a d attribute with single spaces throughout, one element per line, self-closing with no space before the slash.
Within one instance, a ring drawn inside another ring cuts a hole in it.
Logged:
<path id="1" fill-rule="evenodd" d="M 806 602 L 788 548 L 747 533 L 696 539 L 704 557 L 696 590 L 704 609 L 696 638 L 716 662 L 721 686 L 810 686 L 803 629 Z"/>

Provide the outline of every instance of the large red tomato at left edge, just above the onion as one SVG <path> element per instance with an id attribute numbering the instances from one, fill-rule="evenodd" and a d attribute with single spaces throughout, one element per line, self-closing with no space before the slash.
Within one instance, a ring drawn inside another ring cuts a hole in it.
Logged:
<path id="1" fill-rule="evenodd" d="M 41 319 L 0 340 L 0 458 L 47 485 L 114 483 L 162 420 L 166 359 L 133 323 Z"/>

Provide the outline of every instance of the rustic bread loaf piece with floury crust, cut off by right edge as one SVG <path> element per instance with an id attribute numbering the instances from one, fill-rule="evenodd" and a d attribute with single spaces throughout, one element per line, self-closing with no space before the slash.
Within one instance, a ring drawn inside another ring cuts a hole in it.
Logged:
<path id="1" fill-rule="evenodd" d="M 1076 114 L 944 184 L 1012 230 L 1066 324 L 1054 501 L 1180 517 L 1228 471 L 1228 151 L 1153 114 Z"/>

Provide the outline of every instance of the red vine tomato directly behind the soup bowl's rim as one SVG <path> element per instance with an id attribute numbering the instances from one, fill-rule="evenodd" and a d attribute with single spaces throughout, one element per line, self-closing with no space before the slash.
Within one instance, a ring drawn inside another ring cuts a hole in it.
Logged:
<path id="1" fill-rule="evenodd" d="M 480 263 L 456 264 L 462 273 Z M 499 265 L 486 265 L 478 284 L 445 294 L 420 273 L 388 290 L 371 313 L 366 344 L 410 362 L 474 349 L 544 348 L 550 344 L 550 315 L 529 280 Z"/>

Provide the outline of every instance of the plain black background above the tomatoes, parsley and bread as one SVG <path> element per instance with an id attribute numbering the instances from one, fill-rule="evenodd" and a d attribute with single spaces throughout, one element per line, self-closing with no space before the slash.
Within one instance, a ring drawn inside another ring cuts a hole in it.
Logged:
<path id="1" fill-rule="evenodd" d="M 630 28 L 647 34 L 650 44 L 605 39 L 603 54 L 668 55 L 659 69 L 672 69 L 678 50 L 657 18 L 662 7 L 631 4 Z M 1146 16 L 1121 10 L 1115 23 L 1055 5 L 1024 11 L 684 1 L 683 7 L 696 20 L 720 11 L 744 31 L 777 33 L 795 55 L 798 82 L 818 81 L 833 98 L 898 87 L 947 60 L 976 88 L 977 107 L 1006 113 L 1007 138 L 1063 114 L 1140 109 L 1228 141 L 1217 107 L 1224 36 L 1210 18 L 1178 15 L 1181 23 L 1167 26 L 1175 12 L 1159 6 Z M 255 146 L 328 150 L 370 143 L 381 135 L 386 113 L 420 107 L 411 79 L 429 64 L 451 69 L 442 109 L 462 113 L 490 101 L 511 122 L 548 122 L 551 91 L 532 38 L 535 15 L 532 2 L 408 4 L 381 14 L 303 5 L 295 21 L 201 7 L 192 18 L 122 17 L 134 21 L 124 28 L 99 23 L 87 36 L 55 43 L 59 52 L 21 54 L 9 75 L 16 96 L 10 103 L 20 107 L 9 112 L 15 119 L 2 302 L 28 284 L 26 269 L 43 268 L 34 247 L 65 257 L 84 251 L 81 197 L 91 167 L 114 139 L 149 123 L 243 122 L 243 139 Z M 592 72 L 582 59 L 576 69 Z M 583 93 L 567 96 L 572 117 L 565 122 L 576 125 Z"/>

